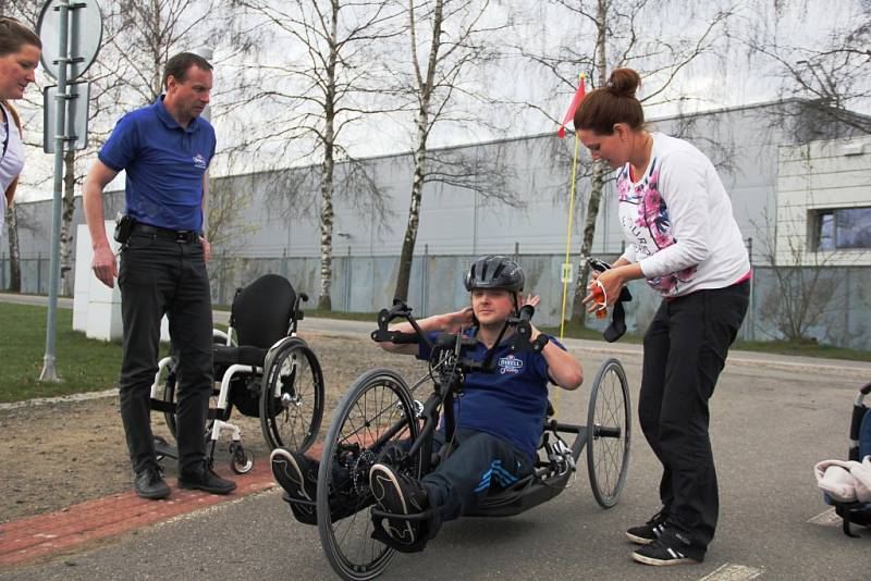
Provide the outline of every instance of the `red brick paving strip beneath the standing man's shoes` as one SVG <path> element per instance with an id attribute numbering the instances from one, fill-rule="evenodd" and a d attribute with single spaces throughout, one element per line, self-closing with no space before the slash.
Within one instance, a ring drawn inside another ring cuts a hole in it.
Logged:
<path id="1" fill-rule="evenodd" d="M 172 494 L 164 500 L 139 498 L 131 491 L 0 524 L 0 568 L 22 565 L 274 486 L 269 458 L 258 460 L 249 473 L 233 477 L 238 487 L 225 496 L 182 490 L 170 481 Z"/>

